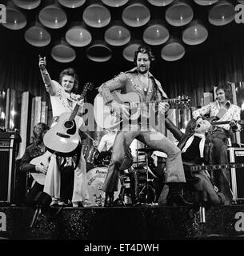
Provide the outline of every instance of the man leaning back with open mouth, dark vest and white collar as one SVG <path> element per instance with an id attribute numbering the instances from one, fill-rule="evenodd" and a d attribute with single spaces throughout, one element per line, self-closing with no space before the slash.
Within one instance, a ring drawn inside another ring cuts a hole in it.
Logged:
<path id="1" fill-rule="evenodd" d="M 208 203 L 218 205 L 224 202 L 224 195 L 216 192 L 211 180 L 210 174 L 206 170 L 198 173 L 190 173 L 189 166 L 200 165 L 206 163 L 204 159 L 206 150 L 206 133 L 210 130 L 210 122 L 207 120 L 199 120 L 195 127 L 192 127 L 190 134 L 184 134 L 169 118 L 166 118 L 166 128 L 178 140 L 178 148 L 182 151 L 182 161 L 185 168 L 187 185 L 193 186 L 196 191 L 204 191 L 207 194 Z M 158 204 L 162 204 L 162 198 L 165 198 L 166 188 L 162 190 L 161 199 Z"/>

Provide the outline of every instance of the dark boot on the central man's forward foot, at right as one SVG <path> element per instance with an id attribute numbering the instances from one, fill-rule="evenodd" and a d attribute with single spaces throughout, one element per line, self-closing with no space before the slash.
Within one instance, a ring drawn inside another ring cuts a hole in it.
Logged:
<path id="1" fill-rule="evenodd" d="M 183 198 L 182 183 L 171 182 L 169 186 L 169 194 L 167 196 L 167 206 L 193 206 L 192 203 L 186 202 Z"/>

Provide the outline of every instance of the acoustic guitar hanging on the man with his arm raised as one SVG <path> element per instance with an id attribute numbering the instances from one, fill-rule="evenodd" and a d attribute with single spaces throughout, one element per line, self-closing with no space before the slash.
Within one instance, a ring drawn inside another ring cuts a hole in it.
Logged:
<path id="1" fill-rule="evenodd" d="M 87 90 L 91 90 L 92 87 L 92 83 L 86 83 L 80 100 L 85 97 Z M 77 103 L 71 114 L 61 114 L 58 118 L 58 123 L 51 127 L 44 135 L 44 145 L 50 152 L 61 156 L 71 156 L 74 154 L 80 142 L 78 134 L 80 117 L 76 115 L 79 107 L 80 105 Z"/>

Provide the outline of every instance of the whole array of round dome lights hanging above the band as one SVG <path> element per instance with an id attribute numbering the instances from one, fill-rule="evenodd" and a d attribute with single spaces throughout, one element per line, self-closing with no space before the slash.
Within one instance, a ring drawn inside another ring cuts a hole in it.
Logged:
<path id="1" fill-rule="evenodd" d="M 186 26 L 182 33 L 182 41 L 188 45 L 198 45 L 206 40 L 208 31 L 201 22 L 194 21 L 194 12 L 190 5 L 178 0 L 147 0 L 154 6 L 167 6 L 174 4 L 166 10 L 166 21 L 172 26 Z M 14 4 L 26 10 L 32 10 L 39 6 L 40 0 L 26 1 L 13 0 Z M 59 4 L 68 8 L 82 6 L 86 0 L 58 0 Z M 125 5 L 128 0 L 102 0 L 104 4 L 111 7 Z M 234 6 L 230 2 L 218 0 L 194 0 L 199 5 L 214 5 L 210 9 L 209 22 L 215 26 L 226 25 L 234 19 Z M 239 1 L 242 3 L 242 1 Z M 7 22 L 2 24 L 9 29 L 19 30 L 26 26 L 26 18 L 21 11 L 14 8 L 11 2 L 7 6 Z M 86 26 L 94 28 L 104 27 L 110 24 L 110 10 L 106 6 L 94 3 L 87 6 L 82 15 L 82 25 L 71 26 L 66 32 L 66 40 L 62 39 L 58 45 L 54 46 L 51 55 L 58 62 L 71 62 L 76 58 L 75 50 L 71 46 L 88 46 L 92 42 L 92 36 Z M 38 14 L 40 22 L 35 22 L 26 30 L 25 38 L 33 46 L 47 46 L 51 41 L 50 33 L 44 26 L 50 29 L 59 29 L 66 25 L 66 13 L 57 4 L 44 7 Z M 166 61 L 175 61 L 182 58 L 185 48 L 181 42 L 170 38 L 169 30 L 162 22 L 150 21 L 150 10 L 140 2 L 134 2 L 127 6 L 122 12 L 122 21 L 131 27 L 145 26 L 143 41 L 152 46 L 166 43 L 162 47 L 162 58 Z M 122 22 L 114 22 L 104 34 L 105 42 L 93 42 L 87 49 L 87 57 L 95 62 L 105 62 L 112 56 L 111 46 L 126 46 L 123 50 L 123 57 L 128 61 L 133 61 L 134 50 L 141 42 L 131 42 L 130 30 L 122 25 Z M 67 43 L 68 42 L 68 43 Z M 101 52 L 96 55 L 97 53 Z"/>

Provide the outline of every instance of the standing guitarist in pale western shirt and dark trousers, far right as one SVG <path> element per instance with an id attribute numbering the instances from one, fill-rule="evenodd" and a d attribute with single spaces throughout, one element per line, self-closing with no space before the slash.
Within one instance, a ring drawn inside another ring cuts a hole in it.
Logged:
<path id="1" fill-rule="evenodd" d="M 210 102 L 210 104 L 203 106 L 199 110 L 195 110 L 193 117 L 195 120 L 202 120 L 204 115 L 209 114 L 210 118 L 215 118 L 217 122 L 226 121 L 224 125 L 214 126 L 206 138 L 206 142 L 210 145 L 207 153 L 207 162 L 222 164 L 228 163 L 228 138 L 231 137 L 232 130 L 238 129 L 237 121 L 240 120 L 241 109 L 230 103 L 230 86 L 218 86 L 216 94 L 216 101 Z M 230 171 L 222 169 L 220 172 L 215 172 L 215 174 L 218 175 L 214 178 L 214 182 L 216 182 L 216 186 L 225 195 L 225 204 L 229 205 L 233 200 L 233 194 L 230 190 Z"/>

